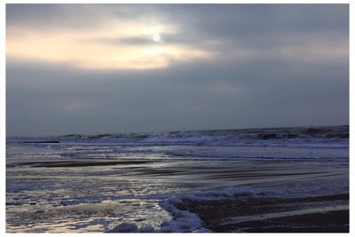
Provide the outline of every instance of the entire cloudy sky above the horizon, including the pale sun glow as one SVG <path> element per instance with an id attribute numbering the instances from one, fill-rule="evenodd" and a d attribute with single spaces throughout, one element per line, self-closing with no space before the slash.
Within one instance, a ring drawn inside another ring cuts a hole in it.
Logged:
<path id="1" fill-rule="evenodd" d="M 6 4 L 6 136 L 337 124 L 348 4 Z"/>

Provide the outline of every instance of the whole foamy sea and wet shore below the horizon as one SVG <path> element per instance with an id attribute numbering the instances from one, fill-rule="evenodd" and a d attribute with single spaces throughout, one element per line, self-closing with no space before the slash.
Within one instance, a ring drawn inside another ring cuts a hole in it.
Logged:
<path id="1" fill-rule="evenodd" d="M 7 233 L 349 232 L 349 126 L 6 138 Z"/>

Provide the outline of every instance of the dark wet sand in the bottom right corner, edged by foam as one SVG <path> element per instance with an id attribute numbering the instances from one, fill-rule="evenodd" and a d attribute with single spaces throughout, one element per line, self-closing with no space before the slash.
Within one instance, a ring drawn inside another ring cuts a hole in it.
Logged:
<path id="1" fill-rule="evenodd" d="M 217 233 L 348 233 L 349 194 L 305 198 L 185 200 L 178 209 L 196 213 Z"/>

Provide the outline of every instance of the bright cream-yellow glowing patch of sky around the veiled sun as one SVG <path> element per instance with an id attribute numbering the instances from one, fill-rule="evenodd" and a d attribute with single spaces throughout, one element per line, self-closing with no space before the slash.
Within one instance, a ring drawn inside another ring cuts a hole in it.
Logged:
<path id="1" fill-rule="evenodd" d="M 139 20 L 112 20 L 99 28 L 10 28 L 6 50 L 8 58 L 67 63 L 86 69 L 162 68 L 173 61 L 211 57 L 209 51 L 186 43 L 164 43 L 163 34 L 181 33 L 174 26 Z M 145 43 L 124 43 L 127 38 Z"/>

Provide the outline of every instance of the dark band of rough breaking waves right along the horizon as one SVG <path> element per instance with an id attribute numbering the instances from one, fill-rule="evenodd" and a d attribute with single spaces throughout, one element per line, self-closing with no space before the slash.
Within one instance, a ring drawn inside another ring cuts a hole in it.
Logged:
<path id="1" fill-rule="evenodd" d="M 44 138 L 8 138 L 9 142 L 43 143 L 44 145 L 59 146 L 59 142 L 86 143 L 119 143 L 130 146 L 137 143 L 144 145 L 196 145 L 196 146 L 297 146 L 304 143 L 319 146 L 342 147 L 349 145 L 349 126 L 297 127 L 274 129 L 243 129 L 243 130 L 187 130 L 170 132 L 139 132 L 122 134 L 51 136 Z M 51 143 L 49 143 L 49 141 Z M 336 148 L 336 147 L 335 147 Z"/>

